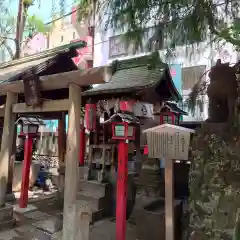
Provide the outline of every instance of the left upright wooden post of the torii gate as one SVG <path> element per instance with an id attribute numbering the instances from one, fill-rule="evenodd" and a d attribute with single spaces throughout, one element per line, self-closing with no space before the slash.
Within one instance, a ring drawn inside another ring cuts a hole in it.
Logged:
<path id="1" fill-rule="evenodd" d="M 14 130 L 16 127 L 15 114 L 12 113 L 12 105 L 17 102 L 17 97 L 17 94 L 12 92 L 7 93 L 0 154 L 0 206 L 5 203 L 9 172 L 8 169 L 12 155 Z"/>

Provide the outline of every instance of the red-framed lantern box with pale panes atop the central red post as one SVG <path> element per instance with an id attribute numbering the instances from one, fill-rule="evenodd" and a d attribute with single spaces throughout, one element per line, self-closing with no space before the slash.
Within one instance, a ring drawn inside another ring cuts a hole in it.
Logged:
<path id="1" fill-rule="evenodd" d="M 113 122 L 112 135 L 115 140 L 135 140 L 136 128 L 126 122 Z"/>

